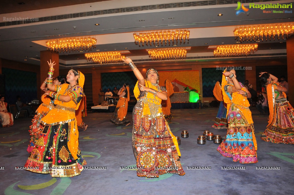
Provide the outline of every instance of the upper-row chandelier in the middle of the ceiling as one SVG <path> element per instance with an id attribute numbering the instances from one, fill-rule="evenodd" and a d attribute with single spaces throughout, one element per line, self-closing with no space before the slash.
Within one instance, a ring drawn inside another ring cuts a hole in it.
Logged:
<path id="1" fill-rule="evenodd" d="M 188 43 L 189 43 L 189 36 L 190 36 L 190 30 L 164 30 L 164 31 L 156 31 L 156 32 L 139 32 L 139 34 L 134 33 L 134 39 L 135 39 L 135 44 L 139 45 L 139 47 L 144 46 L 144 44 L 146 44 L 148 46 L 148 44 L 150 46 L 152 46 L 152 42 L 153 45 L 155 46 L 155 43 L 157 43 L 157 46 L 159 46 L 159 43 L 161 43 L 161 46 L 163 45 L 163 43 L 166 45 L 166 43 L 168 42 L 168 45 L 172 44 L 174 45 L 174 42 L 176 40 L 176 45 L 178 45 L 178 39 L 180 40 L 180 45 L 182 43 L 185 44 L 186 39 L 188 39 Z"/>

